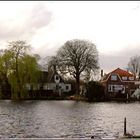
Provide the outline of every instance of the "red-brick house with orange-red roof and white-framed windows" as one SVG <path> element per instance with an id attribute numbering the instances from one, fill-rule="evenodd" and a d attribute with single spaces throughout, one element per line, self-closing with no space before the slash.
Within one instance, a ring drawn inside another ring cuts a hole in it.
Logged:
<path id="1" fill-rule="evenodd" d="M 117 68 L 101 77 L 101 83 L 105 86 L 105 94 L 109 97 L 125 95 L 129 97 L 138 88 L 136 76 L 128 71 Z"/>

